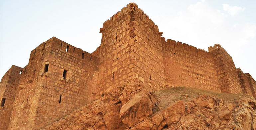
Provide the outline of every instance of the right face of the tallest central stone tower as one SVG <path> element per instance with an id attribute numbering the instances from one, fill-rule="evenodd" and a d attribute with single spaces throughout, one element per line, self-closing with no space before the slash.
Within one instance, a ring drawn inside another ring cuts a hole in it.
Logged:
<path id="1" fill-rule="evenodd" d="M 131 44 L 133 57 L 132 65 L 135 66 L 137 81 L 154 90 L 166 87 L 163 64 L 163 52 L 161 32 L 158 26 L 138 8 L 136 4 L 132 8 L 134 19 L 134 41 Z"/>

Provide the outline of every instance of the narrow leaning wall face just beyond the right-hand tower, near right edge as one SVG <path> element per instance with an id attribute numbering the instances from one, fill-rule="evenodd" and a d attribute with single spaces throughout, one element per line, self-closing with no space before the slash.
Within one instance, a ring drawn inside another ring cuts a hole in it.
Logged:
<path id="1" fill-rule="evenodd" d="M 253 92 L 251 90 L 247 75 L 245 75 L 240 68 L 237 68 L 236 70 L 240 81 L 240 85 L 242 87 L 243 94 L 253 96 Z"/>

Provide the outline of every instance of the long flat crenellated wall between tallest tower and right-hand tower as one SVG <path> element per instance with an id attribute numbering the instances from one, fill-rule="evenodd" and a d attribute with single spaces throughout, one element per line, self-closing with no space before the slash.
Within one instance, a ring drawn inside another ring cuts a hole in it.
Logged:
<path id="1" fill-rule="evenodd" d="M 213 55 L 188 44 L 162 38 L 168 86 L 195 87 L 220 92 Z"/>

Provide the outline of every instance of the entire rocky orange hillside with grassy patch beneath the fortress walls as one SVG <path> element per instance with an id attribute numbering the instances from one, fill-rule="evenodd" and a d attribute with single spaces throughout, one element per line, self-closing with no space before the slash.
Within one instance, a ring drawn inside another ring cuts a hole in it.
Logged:
<path id="1" fill-rule="evenodd" d="M 44 130 L 254 130 L 256 100 L 191 88 L 110 91 Z"/>

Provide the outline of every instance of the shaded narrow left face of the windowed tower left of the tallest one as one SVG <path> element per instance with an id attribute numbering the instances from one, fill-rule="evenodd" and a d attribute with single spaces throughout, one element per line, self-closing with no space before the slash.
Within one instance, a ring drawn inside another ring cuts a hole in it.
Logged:
<path id="1" fill-rule="evenodd" d="M 40 87 L 43 82 L 40 69 L 42 69 L 42 61 L 49 52 L 48 46 L 47 42 L 43 42 L 31 51 L 29 63 L 24 67 L 21 74 L 9 130 L 32 129 L 34 127 Z"/>

